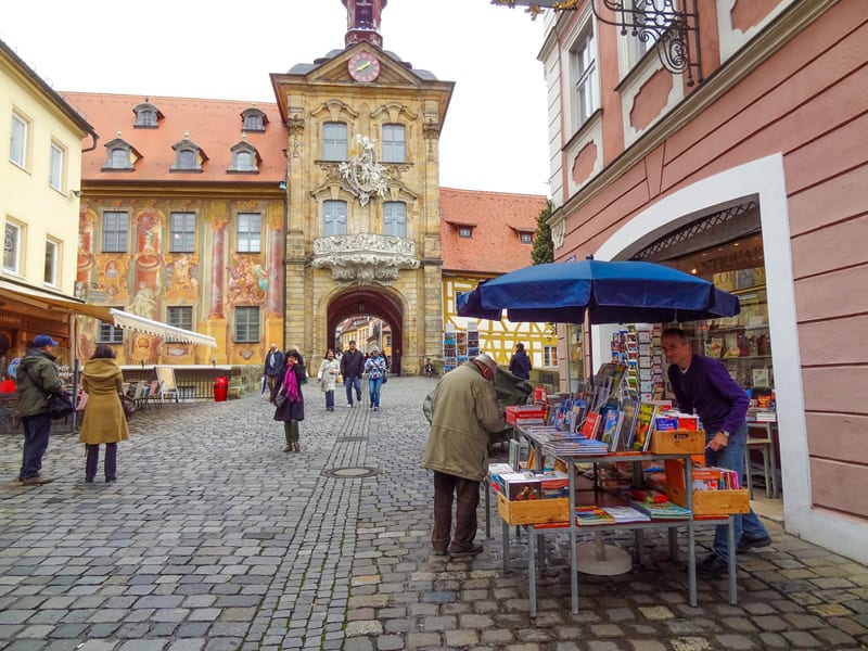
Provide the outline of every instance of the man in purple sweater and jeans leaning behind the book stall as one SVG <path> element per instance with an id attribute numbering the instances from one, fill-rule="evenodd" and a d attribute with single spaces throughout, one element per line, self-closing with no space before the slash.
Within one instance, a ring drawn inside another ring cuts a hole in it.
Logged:
<path id="1" fill-rule="evenodd" d="M 705 429 L 705 465 L 735 470 L 741 477 L 748 442 L 748 421 L 744 418 L 750 405 L 748 394 L 736 384 L 723 363 L 694 355 L 684 330 L 665 330 L 661 346 L 671 363 L 668 376 L 678 409 L 698 413 Z M 766 527 L 753 510 L 736 515 L 735 525 L 738 553 L 771 544 Z M 712 553 L 697 565 L 697 571 L 725 573 L 727 558 L 727 526 L 724 524 L 715 532 Z"/>

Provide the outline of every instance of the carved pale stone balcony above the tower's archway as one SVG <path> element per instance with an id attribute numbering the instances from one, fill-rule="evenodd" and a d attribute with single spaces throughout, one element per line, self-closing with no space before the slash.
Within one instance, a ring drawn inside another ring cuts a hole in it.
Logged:
<path id="1" fill-rule="evenodd" d="M 391 285 L 401 269 L 417 269 L 412 240 L 372 233 L 331 235 L 314 240 L 315 269 L 331 269 L 341 285 Z"/>

